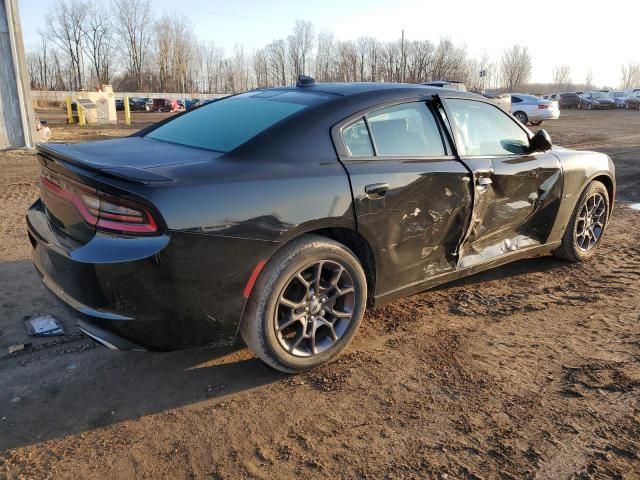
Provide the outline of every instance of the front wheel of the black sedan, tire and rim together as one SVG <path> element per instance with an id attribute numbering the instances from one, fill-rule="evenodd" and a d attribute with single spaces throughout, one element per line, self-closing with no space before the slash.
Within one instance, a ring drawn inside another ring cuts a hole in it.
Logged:
<path id="1" fill-rule="evenodd" d="M 595 255 L 609 221 L 609 192 L 602 182 L 593 181 L 582 192 L 571 220 L 554 255 L 583 262 Z"/>

